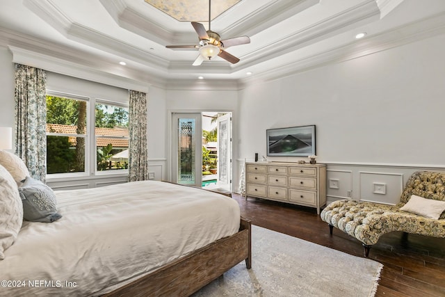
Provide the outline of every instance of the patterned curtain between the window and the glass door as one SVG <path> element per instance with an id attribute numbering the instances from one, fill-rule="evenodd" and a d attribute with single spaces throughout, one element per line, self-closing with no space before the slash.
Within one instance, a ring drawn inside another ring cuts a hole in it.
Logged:
<path id="1" fill-rule="evenodd" d="M 148 179 L 147 98 L 145 93 L 129 91 L 129 182 Z"/>

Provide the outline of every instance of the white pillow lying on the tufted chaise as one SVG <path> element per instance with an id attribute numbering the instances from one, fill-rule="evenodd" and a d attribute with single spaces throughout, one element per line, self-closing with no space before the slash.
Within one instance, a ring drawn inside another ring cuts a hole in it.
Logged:
<path id="1" fill-rule="evenodd" d="M 426 216 L 427 218 L 439 219 L 442 212 L 445 211 L 445 201 L 426 199 L 416 195 L 411 195 L 407 204 L 401 207 L 401 210 Z"/>

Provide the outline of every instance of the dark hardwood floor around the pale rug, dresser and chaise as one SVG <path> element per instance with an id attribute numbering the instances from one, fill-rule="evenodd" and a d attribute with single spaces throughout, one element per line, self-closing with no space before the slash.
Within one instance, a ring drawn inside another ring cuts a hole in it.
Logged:
<path id="1" fill-rule="evenodd" d="M 335 228 L 331 236 L 316 209 L 257 198 L 245 201 L 237 194 L 233 198 L 241 216 L 254 225 L 364 257 L 357 239 Z M 445 296 L 445 239 L 391 232 L 371 248 L 369 258 L 384 265 L 375 296 Z"/>

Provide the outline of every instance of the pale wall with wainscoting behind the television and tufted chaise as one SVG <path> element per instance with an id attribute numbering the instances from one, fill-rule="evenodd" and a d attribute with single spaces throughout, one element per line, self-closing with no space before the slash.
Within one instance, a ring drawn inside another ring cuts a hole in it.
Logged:
<path id="1" fill-rule="evenodd" d="M 316 125 L 317 160 L 346 187 L 328 195 L 353 191 L 353 198 L 392 203 L 410 172 L 445 168 L 444 52 L 439 35 L 245 88 L 238 162 L 266 154 L 266 129 Z M 371 193 L 378 182 L 387 184 L 386 197 Z"/>

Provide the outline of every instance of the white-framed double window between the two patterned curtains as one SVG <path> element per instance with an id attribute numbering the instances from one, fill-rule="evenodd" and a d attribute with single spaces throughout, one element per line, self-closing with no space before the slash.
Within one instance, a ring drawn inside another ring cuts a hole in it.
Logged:
<path id="1" fill-rule="evenodd" d="M 47 94 L 47 174 L 127 169 L 128 120 L 127 106 Z"/>

